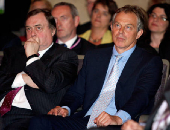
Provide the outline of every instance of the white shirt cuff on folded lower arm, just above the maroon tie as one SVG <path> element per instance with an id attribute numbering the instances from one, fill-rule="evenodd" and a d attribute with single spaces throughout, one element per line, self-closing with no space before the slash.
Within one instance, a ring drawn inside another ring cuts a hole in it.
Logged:
<path id="1" fill-rule="evenodd" d="M 20 87 L 20 86 L 24 86 L 25 85 L 25 82 L 22 78 L 22 74 L 25 74 L 25 72 L 21 72 L 21 73 L 18 73 L 12 83 L 12 88 L 17 88 L 17 87 Z"/>

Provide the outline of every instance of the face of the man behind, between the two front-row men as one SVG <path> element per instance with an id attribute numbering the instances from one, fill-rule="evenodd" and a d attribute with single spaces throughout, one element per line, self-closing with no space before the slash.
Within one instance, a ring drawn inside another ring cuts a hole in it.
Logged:
<path id="1" fill-rule="evenodd" d="M 73 18 L 69 6 L 62 5 L 52 10 L 56 21 L 57 37 L 63 42 L 70 40 L 76 35 L 76 28 L 79 24 L 79 16 Z"/>

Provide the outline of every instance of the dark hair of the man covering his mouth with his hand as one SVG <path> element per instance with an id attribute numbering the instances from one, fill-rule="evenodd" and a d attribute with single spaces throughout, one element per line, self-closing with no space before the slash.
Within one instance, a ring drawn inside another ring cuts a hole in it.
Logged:
<path id="1" fill-rule="evenodd" d="M 55 23 L 55 19 L 54 17 L 51 15 L 51 11 L 50 10 L 47 10 L 47 9 L 35 9 L 35 10 L 32 10 L 30 11 L 28 14 L 27 14 L 27 18 L 30 18 L 31 16 L 34 16 L 34 15 L 37 15 L 39 13 L 43 13 L 45 18 L 47 19 L 48 21 L 48 24 L 49 24 L 49 28 L 50 29 L 56 29 L 56 23 Z"/>

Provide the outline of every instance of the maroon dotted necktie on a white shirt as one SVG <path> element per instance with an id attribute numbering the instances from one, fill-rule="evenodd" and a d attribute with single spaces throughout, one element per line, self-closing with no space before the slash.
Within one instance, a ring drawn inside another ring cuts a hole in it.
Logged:
<path id="1" fill-rule="evenodd" d="M 7 113 L 8 111 L 11 110 L 11 106 L 12 106 L 12 102 L 14 100 L 14 97 L 15 95 L 19 92 L 19 90 L 21 89 L 22 87 L 18 87 L 12 91 L 10 91 L 6 96 L 5 96 L 5 99 L 4 99 L 4 102 L 2 103 L 2 106 L 0 108 L 0 113 L 1 113 L 1 116 L 3 116 L 5 113 Z"/>

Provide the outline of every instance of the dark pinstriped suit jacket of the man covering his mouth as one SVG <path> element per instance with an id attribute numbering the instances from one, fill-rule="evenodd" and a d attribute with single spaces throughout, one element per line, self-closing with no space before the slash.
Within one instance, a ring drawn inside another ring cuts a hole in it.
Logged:
<path id="1" fill-rule="evenodd" d="M 35 114 L 47 114 L 60 103 L 67 88 L 74 82 L 77 75 L 77 55 L 54 44 L 40 60 L 28 66 L 26 62 L 24 47 L 5 50 L 0 67 L 0 99 L 11 90 L 16 74 L 24 71 L 39 87 L 24 87 L 32 111 Z"/>

